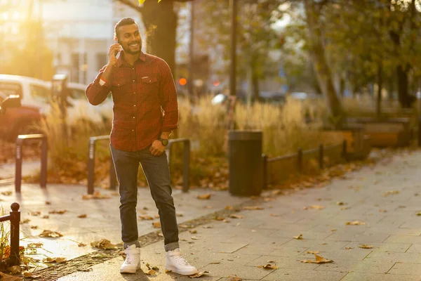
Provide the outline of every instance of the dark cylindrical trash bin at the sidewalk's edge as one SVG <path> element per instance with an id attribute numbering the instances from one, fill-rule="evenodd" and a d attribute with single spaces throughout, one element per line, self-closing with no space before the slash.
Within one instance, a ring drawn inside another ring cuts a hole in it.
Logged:
<path id="1" fill-rule="evenodd" d="M 229 131 L 229 192 L 258 196 L 263 186 L 263 133 L 258 130 Z"/>

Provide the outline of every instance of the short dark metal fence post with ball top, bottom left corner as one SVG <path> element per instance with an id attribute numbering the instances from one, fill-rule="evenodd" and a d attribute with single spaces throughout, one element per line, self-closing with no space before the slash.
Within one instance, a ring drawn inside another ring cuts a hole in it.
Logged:
<path id="1" fill-rule="evenodd" d="M 19 223 L 20 211 L 19 204 L 14 202 L 11 204 L 10 213 L 6 216 L 0 216 L 0 222 L 11 221 L 11 254 L 6 261 L 1 261 L 6 266 L 19 266 Z"/>

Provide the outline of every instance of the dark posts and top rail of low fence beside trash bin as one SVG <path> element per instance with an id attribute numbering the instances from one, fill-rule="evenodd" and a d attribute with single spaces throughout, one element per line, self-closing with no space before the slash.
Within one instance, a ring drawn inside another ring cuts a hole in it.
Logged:
<path id="1" fill-rule="evenodd" d="M 323 144 L 319 145 L 319 148 L 313 148 L 310 150 L 302 150 L 301 148 L 298 148 L 297 153 L 291 153 L 288 155 L 282 155 L 282 156 L 277 156 L 277 157 L 267 157 L 267 155 L 262 155 L 262 162 L 263 162 L 263 188 L 267 188 L 267 165 L 271 162 L 276 162 L 276 161 L 282 161 L 282 160 L 286 160 L 286 159 L 292 159 L 297 157 L 297 171 L 298 173 L 302 173 L 302 169 L 303 169 L 303 156 L 304 155 L 309 155 L 312 153 L 316 153 L 319 152 L 318 154 L 318 162 L 319 162 L 319 168 L 320 169 L 324 169 L 324 155 L 325 152 L 328 150 L 332 150 L 335 148 L 339 148 L 342 147 L 342 152 L 341 152 L 341 158 L 342 159 L 346 159 L 346 155 L 347 155 L 347 141 L 343 141 L 342 143 L 338 144 L 338 145 L 327 145 L 324 146 Z"/>

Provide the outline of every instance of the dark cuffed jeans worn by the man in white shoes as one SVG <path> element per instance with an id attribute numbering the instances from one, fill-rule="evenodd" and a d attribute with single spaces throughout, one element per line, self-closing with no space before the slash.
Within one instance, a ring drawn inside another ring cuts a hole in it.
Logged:
<path id="1" fill-rule="evenodd" d="M 121 240 L 124 242 L 124 248 L 131 244 L 140 247 L 136 215 L 140 163 L 149 184 L 152 198 L 155 201 L 156 208 L 158 208 L 165 250 L 177 249 L 179 247 L 178 225 L 175 217 L 174 200 L 171 196 L 170 169 L 165 152 L 159 156 L 154 156 L 149 152 L 149 147 L 135 152 L 116 150 L 112 145 L 110 145 L 110 148 L 119 181 Z"/>

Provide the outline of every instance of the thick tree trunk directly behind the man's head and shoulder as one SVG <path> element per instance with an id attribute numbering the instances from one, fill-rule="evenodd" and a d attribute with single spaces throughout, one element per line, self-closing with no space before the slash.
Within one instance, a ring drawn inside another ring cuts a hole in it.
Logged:
<path id="1" fill-rule="evenodd" d="M 168 63 L 175 77 L 175 39 L 178 16 L 173 1 L 145 1 L 140 8 L 147 32 L 146 52 Z"/>

